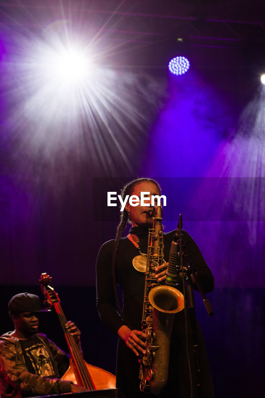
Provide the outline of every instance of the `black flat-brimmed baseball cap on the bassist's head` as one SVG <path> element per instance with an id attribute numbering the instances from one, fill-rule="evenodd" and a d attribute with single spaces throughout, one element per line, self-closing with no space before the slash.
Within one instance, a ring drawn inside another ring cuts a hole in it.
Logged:
<path id="1" fill-rule="evenodd" d="M 9 311 L 15 312 L 48 312 L 50 310 L 41 309 L 41 300 L 36 295 L 30 293 L 19 293 L 11 298 L 8 303 Z"/>

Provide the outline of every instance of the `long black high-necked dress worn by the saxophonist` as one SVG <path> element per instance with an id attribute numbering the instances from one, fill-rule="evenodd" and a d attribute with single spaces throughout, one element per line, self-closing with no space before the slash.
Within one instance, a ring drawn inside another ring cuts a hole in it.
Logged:
<path id="1" fill-rule="evenodd" d="M 148 229 L 133 227 L 130 232 L 131 234 L 138 236 L 138 245 L 141 251 L 146 253 Z M 164 258 L 166 261 L 168 261 L 169 258 L 171 241 L 173 240 L 174 234 L 175 231 L 164 234 Z M 205 292 L 211 292 L 214 281 L 205 259 L 203 258 L 198 246 L 185 231 L 183 231 L 183 239 Z M 111 254 L 113 242 L 113 240 L 105 242 L 101 246 L 97 256 L 97 310 L 104 324 L 117 335 L 119 328 L 125 323 L 115 308 L 113 283 L 111 279 Z M 123 312 L 125 317 L 134 329 L 141 330 L 145 275 L 144 273 L 134 269 L 132 264 L 133 258 L 138 254 L 138 250 L 128 238 L 121 239 L 116 258 L 116 279 L 123 290 Z M 192 397 L 197 398 L 196 371 L 193 359 L 190 318 L 188 314 L 187 330 L 193 385 Z M 208 366 L 203 335 L 198 323 L 197 332 L 199 338 L 199 359 L 203 398 L 212 398 L 213 392 L 210 369 Z M 116 367 L 117 388 L 121 389 L 127 398 L 151 397 L 152 395 L 150 394 L 140 392 L 138 376 L 138 358 L 123 341 L 119 340 Z M 158 397 L 191 397 L 191 379 L 187 360 L 184 310 L 177 312 L 174 317 L 170 345 L 169 378 L 165 390 L 161 392 Z"/>

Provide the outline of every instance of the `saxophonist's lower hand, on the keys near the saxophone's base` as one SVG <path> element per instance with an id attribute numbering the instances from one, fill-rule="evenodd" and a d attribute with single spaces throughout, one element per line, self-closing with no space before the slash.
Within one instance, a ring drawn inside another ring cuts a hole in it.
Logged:
<path id="1" fill-rule="evenodd" d="M 137 357 L 139 353 L 145 354 L 146 344 L 144 341 L 146 340 L 146 334 L 144 332 L 140 330 L 131 330 L 128 326 L 123 325 L 118 330 L 118 336 Z"/>

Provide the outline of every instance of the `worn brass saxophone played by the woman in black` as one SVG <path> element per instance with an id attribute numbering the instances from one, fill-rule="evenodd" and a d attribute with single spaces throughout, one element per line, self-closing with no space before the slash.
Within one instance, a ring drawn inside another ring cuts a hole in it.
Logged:
<path id="1" fill-rule="evenodd" d="M 152 211 L 153 227 L 148 234 L 142 331 L 146 334 L 146 354 L 140 362 L 140 390 L 158 395 L 168 380 L 168 363 L 173 317 L 183 310 L 183 294 L 172 286 L 160 285 L 155 270 L 164 260 L 162 207 Z M 152 215 L 151 214 L 151 215 Z"/>

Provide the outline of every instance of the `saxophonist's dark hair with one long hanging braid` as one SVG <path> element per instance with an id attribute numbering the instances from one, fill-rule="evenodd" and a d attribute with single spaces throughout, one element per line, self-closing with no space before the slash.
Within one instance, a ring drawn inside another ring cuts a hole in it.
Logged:
<path id="1" fill-rule="evenodd" d="M 154 179 L 152 179 L 152 178 L 136 178 L 133 181 L 130 181 L 129 183 L 124 185 L 123 189 L 121 190 L 121 197 L 122 197 L 123 201 L 124 201 L 126 195 L 129 195 L 129 197 L 131 196 L 131 194 L 133 192 L 133 189 L 134 189 L 134 186 L 139 184 L 139 183 L 141 183 L 141 182 L 143 182 L 143 181 L 154 183 L 158 187 L 159 193 L 161 193 L 160 185 Z M 117 294 L 116 275 L 115 275 L 115 263 L 116 263 L 117 250 L 118 250 L 119 243 L 120 243 L 120 240 L 121 240 L 122 232 L 123 232 L 127 222 L 131 222 L 131 220 L 129 219 L 129 214 L 128 214 L 127 210 L 124 209 L 121 212 L 121 221 L 120 221 L 120 223 L 119 223 L 119 225 L 117 227 L 116 238 L 115 238 L 115 242 L 114 242 L 113 250 L 112 250 L 111 276 L 112 276 L 113 290 L 114 290 L 114 296 L 115 296 L 117 309 L 119 311 L 119 314 L 123 318 L 124 322 L 126 322 L 128 324 L 128 322 L 126 321 L 125 316 L 123 314 L 123 310 L 121 309 L 121 304 L 119 302 L 119 298 L 118 298 L 118 294 Z"/>

